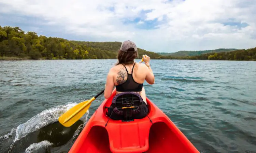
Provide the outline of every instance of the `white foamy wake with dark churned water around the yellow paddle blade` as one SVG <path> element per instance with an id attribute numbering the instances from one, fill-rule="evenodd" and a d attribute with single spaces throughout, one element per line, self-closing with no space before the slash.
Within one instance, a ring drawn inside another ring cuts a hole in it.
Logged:
<path id="1" fill-rule="evenodd" d="M 10 133 L 0 137 L 0 152 L 34 153 L 48 152 L 50 147 L 59 147 L 73 141 L 80 132 L 80 126 L 87 122 L 88 112 L 69 128 L 58 122 L 58 117 L 76 103 L 55 106 L 35 115 L 20 124 Z M 5 148 L 4 150 L 2 150 Z"/>

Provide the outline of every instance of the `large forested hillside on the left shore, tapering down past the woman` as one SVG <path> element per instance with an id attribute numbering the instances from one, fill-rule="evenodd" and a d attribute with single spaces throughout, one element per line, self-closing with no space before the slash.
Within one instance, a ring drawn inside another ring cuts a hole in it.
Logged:
<path id="1" fill-rule="evenodd" d="M 0 26 L 0 57 L 25 59 L 114 59 L 121 42 L 69 41 L 62 38 L 38 36 L 19 27 Z M 143 54 L 159 59 L 162 56 L 138 48 Z M 0 58 L 0 59 L 1 59 Z"/>

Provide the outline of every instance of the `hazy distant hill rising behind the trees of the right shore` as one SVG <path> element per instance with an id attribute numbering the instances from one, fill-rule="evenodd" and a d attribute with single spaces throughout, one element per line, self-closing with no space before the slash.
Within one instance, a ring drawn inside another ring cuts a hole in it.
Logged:
<path id="1" fill-rule="evenodd" d="M 215 50 L 202 50 L 202 51 L 178 51 L 175 53 L 165 53 L 165 52 L 160 52 L 158 53 L 159 55 L 163 56 L 173 56 L 173 57 L 186 57 L 186 56 L 198 56 L 202 54 L 207 54 L 207 53 L 218 53 L 218 52 L 230 52 L 238 49 L 234 48 L 220 48 L 220 49 L 215 49 Z"/>

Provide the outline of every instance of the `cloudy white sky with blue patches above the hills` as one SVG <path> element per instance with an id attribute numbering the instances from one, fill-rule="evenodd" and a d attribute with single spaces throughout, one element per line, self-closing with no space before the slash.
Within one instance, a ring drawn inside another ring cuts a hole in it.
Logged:
<path id="1" fill-rule="evenodd" d="M 153 52 L 256 47 L 256 0 L 1 0 L 0 26 Z"/>

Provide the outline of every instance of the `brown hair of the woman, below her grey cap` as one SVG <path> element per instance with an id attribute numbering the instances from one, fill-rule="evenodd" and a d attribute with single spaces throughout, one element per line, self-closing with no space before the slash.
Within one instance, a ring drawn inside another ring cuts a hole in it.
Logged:
<path id="1" fill-rule="evenodd" d="M 134 52 L 134 48 L 129 48 L 127 52 L 123 52 L 122 50 L 118 51 L 117 59 L 118 64 L 132 64 L 134 59 L 138 56 L 138 52 Z"/>

